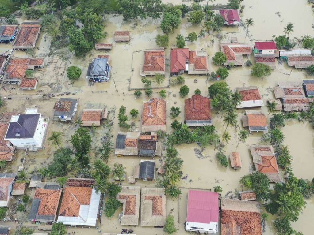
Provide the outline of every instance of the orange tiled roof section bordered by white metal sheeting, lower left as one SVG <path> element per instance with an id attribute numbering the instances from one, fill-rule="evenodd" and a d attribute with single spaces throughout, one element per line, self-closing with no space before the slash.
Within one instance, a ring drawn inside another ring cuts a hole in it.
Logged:
<path id="1" fill-rule="evenodd" d="M 63 193 L 59 216 L 78 217 L 81 205 L 89 205 L 91 187 L 69 187 Z"/>

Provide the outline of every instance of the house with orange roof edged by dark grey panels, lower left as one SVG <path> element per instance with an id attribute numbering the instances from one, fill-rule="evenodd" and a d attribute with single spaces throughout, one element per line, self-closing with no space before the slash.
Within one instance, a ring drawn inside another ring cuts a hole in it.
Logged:
<path id="1" fill-rule="evenodd" d="M 28 220 L 55 222 L 61 191 L 58 183 L 39 183 L 30 206 Z"/>

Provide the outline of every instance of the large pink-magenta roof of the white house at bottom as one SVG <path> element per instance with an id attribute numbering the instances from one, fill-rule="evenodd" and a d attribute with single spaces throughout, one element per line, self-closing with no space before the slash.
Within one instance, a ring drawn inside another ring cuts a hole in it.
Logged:
<path id="1" fill-rule="evenodd" d="M 218 222 L 218 193 L 189 190 L 187 221 L 198 223 Z"/>

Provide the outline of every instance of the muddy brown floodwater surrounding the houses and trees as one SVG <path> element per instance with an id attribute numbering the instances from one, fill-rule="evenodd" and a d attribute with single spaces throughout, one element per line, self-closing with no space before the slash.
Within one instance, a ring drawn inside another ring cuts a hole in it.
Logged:
<path id="1" fill-rule="evenodd" d="M 168 3 L 170 1 L 164 0 L 163 3 Z M 182 4 L 181 0 L 171 1 L 174 4 Z M 192 1 L 191 1 L 192 2 Z M 206 5 L 207 1 L 203 1 L 201 4 Z M 225 4 L 227 0 L 218 1 L 216 4 Z M 189 1 L 184 1 L 183 3 L 189 4 Z M 244 12 L 241 14 L 241 19 L 253 18 L 254 26 L 249 29 L 249 34 L 245 38 L 245 30 L 243 27 L 224 27 L 222 34 L 225 35 L 225 39 L 222 42 L 230 41 L 231 37 L 237 37 L 239 42 L 253 43 L 254 40 L 271 40 L 273 35 L 283 34 L 283 27 L 291 22 L 294 24 L 294 32 L 291 37 L 301 37 L 305 34 L 310 34 L 312 32 L 312 19 L 313 15 L 311 13 L 311 6 L 306 3 L 306 1 L 293 0 L 287 2 L 284 0 L 251 0 L 244 1 L 243 5 L 246 5 Z M 271 7 L 269 7 L 271 6 Z M 279 12 L 279 14 L 276 14 Z M 280 17 L 279 17 L 280 15 Z M 102 42 L 112 43 L 112 50 L 109 52 L 95 51 L 92 50 L 85 57 L 75 58 L 72 53 L 69 53 L 70 62 L 62 61 L 57 56 L 48 57 L 49 52 L 49 37 L 41 34 L 39 40 L 36 44 L 36 57 L 45 57 L 46 66 L 43 69 L 38 70 L 35 73 L 35 77 L 38 78 L 39 84 L 37 91 L 19 91 L 18 89 L 12 89 L 10 85 L 5 85 L 7 91 L 3 89 L 0 90 L 2 97 L 13 97 L 12 100 L 5 101 L 5 106 L 2 111 L 20 111 L 24 112 L 26 107 L 38 107 L 39 112 L 46 117 L 52 117 L 53 115 L 53 105 L 57 101 L 58 97 L 51 99 L 42 99 L 42 93 L 54 93 L 58 94 L 64 91 L 70 91 L 75 93 L 75 95 L 69 95 L 68 97 L 79 98 L 78 114 L 76 116 L 80 117 L 80 113 L 84 108 L 101 108 L 107 107 L 111 112 L 108 118 L 113 121 L 113 126 L 111 127 L 111 135 L 113 135 L 112 141 L 115 142 L 116 134 L 121 130 L 117 125 L 116 113 L 117 109 L 123 105 L 127 107 L 127 112 L 132 108 L 138 110 L 142 109 L 143 101 L 147 101 L 148 97 L 143 95 L 142 97 L 135 99 L 133 96 L 133 91 L 129 91 L 128 88 L 142 87 L 141 77 L 139 75 L 140 65 L 143 64 L 143 51 L 146 49 L 155 48 L 155 36 L 162 33 L 159 28 L 160 19 L 152 20 L 151 18 L 146 20 L 137 20 L 132 23 L 124 23 L 122 21 L 122 16 L 119 15 L 108 15 L 107 21 L 105 22 L 105 31 L 108 33 Z M 170 46 L 165 50 L 166 55 L 166 79 L 161 86 L 167 86 L 169 83 L 170 74 L 170 48 L 175 46 L 175 37 L 177 34 L 183 34 L 187 36 L 188 33 L 195 31 L 197 34 L 202 29 L 202 26 L 192 26 L 187 22 L 187 19 L 182 19 L 182 24 L 179 29 L 176 29 L 170 36 Z M 128 43 L 116 43 L 113 41 L 113 33 L 116 30 L 128 30 L 131 34 L 131 41 Z M 211 43 L 214 40 L 214 43 Z M 37 50 L 37 47 L 39 50 Z M 211 62 L 211 57 L 216 51 L 219 51 L 219 41 L 213 35 L 206 34 L 203 38 L 198 38 L 194 43 L 187 42 L 187 47 L 193 50 L 204 49 L 208 53 L 208 65 L 209 70 L 217 70 L 217 66 L 213 65 Z M 0 53 L 6 52 L 11 49 L 11 45 L 0 45 Z M 111 80 L 107 83 L 95 84 L 94 86 L 88 86 L 86 81 L 86 73 L 88 64 L 92 58 L 97 57 L 97 55 L 110 54 L 110 64 L 111 64 Z M 28 57 L 24 52 L 14 52 L 14 57 Z M 133 59 L 132 59 L 133 58 Z M 253 57 L 250 58 L 253 60 Z M 73 84 L 66 77 L 66 68 L 69 65 L 77 65 L 82 69 L 82 76 L 78 81 Z M 283 65 L 277 65 L 276 69 L 273 70 L 272 74 L 267 78 L 254 78 L 250 76 L 249 67 L 239 67 L 232 68 L 230 75 L 225 80 L 230 89 L 233 91 L 238 86 L 258 86 L 260 93 L 263 96 L 264 103 L 269 97 L 273 97 L 271 89 L 273 86 L 277 85 L 277 81 L 300 81 L 304 78 L 310 78 L 306 75 L 304 71 L 289 68 L 286 63 Z M 212 84 L 211 81 L 207 81 L 205 76 L 189 76 L 184 75 L 186 78 L 185 84 L 190 87 L 189 96 L 193 94 L 193 91 L 198 88 L 202 91 L 202 95 L 207 95 L 207 87 Z M 148 77 L 149 78 L 149 77 Z M 194 83 L 194 79 L 198 82 Z M 154 86 L 154 84 L 153 84 Z M 168 93 L 166 97 L 167 102 L 167 133 L 171 133 L 171 122 L 170 111 L 171 106 L 180 107 L 181 111 L 184 110 L 184 98 L 179 97 L 179 87 L 171 86 L 165 90 Z M 16 88 L 16 87 L 15 87 Z M 38 92 L 43 90 L 43 92 Z M 94 92 L 93 92 L 94 91 Z M 97 92 L 99 91 L 99 92 Z M 103 92 L 100 92 L 103 91 Z M 154 90 L 154 96 L 159 97 L 156 93 L 159 90 Z M 37 92 L 37 93 L 35 93 Z M 175 97 L 174 97 L 175 95 Z M 31 97 L 30 100 L 25 99 L 25 96 Z M 176 102 L 176 104 L 174 104 Z M 267 114 L 267 108 L 262 107 L 262 111 Z M 239 125 L 241 126 L 241 117 L 244 110 L 237 111 L 239 114 Z M 216 127 L 217 132 L 221 135 L 225 126 L 223 126 L 223 121 L 221 116 L 216 116 L 213 113 L 212 122 Z M 268 115 L 270 118 L 270 115 Z M 184 121 L 184 113 L 182 112 L 177 118 L 178 121 Z M 131 119 L 135 122 L 134 130 L 140 130 L 140 116 L 135 119 Z M 106 122 L 108 123 L 108 122 Z M 102 126 L 98 127 L 95 133 L 92 133 L 93 144 L 90 157 L 93 160 L 95 158 L 95 150 L 101 145 L 100 138 L 108 133 L 107 124 L 103 123 Z M 51 131 L 62 131 L 64 133 L 64 143 L 63 146 L 70 146 L 67 140 L 71 137 L 74 130 L 77 127 L 73 123 L 58 123 L 49 122 L 47 137 L 50 136 Z M 241 127 L 242 128 L 242 127 Z M 312 179 L 313 175 L 311 173 L 310 166 L 314 164 L 314 153 L 313 153 L 313 128 L 307 122 L 299 123 L 298 121 L 288 121 L 284 128 L 282 128 L 285 135 L 284 144 L 288 145 L 291 154 L 294 157 L 292 162 L 292 167 L 295 175 L 299 178 Z M 302 134 L 301 131 L 302 130 Z M 230 167 L 223 168 L 218 165 L 215 160 L 215 153 L 212 146 L 206 147 L 202 156 L 197 156 L 195 150 L 199 150 L 200 147 L 196 144 L 183 144 L 176 146 L 181 158 L 184 160 L 182 167 L 183 175 L 188 175 L 186 180 L 181 180 L 179 186 L 182 189 L 182 195 L 179 200 L 167 198 L 167 212 L 172 213 L 175 216 L 175 221 L 179 231 L 176 234 L 185 234 L 183 223 L 186 220 L 186 205 L 187 205 L 187 191 L 189 188 L 196 189 L 213 189 L 215 185 L 220 185 L 223 189 L 222 196 L 229 191 L 236 195 L 236 191 L 241 191 L 241 185 L 239 184 L 239 179 L 241 176 L 246 175 L 252 171 L 252 157 L 249 154 L 249 145 L 259 144 L 261 133 L 253 133 L 249 135 L 245 143 L 240 143 L 239 147 L 236 148 L 238 142 L 238 132 L 239 128 L 236 130 L 234 128 L 227 128 L 227 131 L 231 135 L 231 140 L 229 144 L 225 145 L 224 151 L 227 156 L 232 151 L 238 151 L 242 159 L 242 169 L 233 170 Z M 297 138 L 295 136 L 297 135 Z M 45 148 L 37 153 L 28 153 L 25 158 L 25 170 L 30 172 L 34 168 L 38 168 L 41 165 L 47 165 L 52 160 L 52 153 L 54 147 L 51 147 L 48 141 L 45 142 Z M 21 165 L 20 159 L 24 158 L 25 151 L 18 151 L 15 154 L 15 160 L 8 165 L 9 171 L 17 171 L 18 166 Z M 122 163 L 126 166 L 127 176 L 133 175 L 133 168 L 138 165 L 142 158 L 138 157 L 116 157 L 112 155 L 108 161 L 108 164 L 112 167 L 115 162 Z M 159 166 L 160 161 L 155 158 L 157 166 Z M 129 185 L 127 182 L 123 182 L 122 185 Z M 154 182 L 143 182 L 138 180 L 135 185 L 141 187 L 154 187 Z M 31 193 L 31 192 L 28 192 Z M 306 234 L 311 234 L 314 230 L 314 225 L 312 223 L 314 211 L 314 199 L 313 197 L 307 200 L 306 208 L 303 210 L 303 214 L 297 222 L 292 224 L 293 228 Z M 118 212 L 116 213 L 116 215 Z M 127 226 L 120 226 L 116 218 L 116 215 L 112 218 L 101 217 L 102 226 L 100 227 L 101 232 L 117 232 L 119 233 L 122 228 Z M 266 223 L 265 235 L 275 234 L 273 230 L 272 220 L 275 219 L 273 216 L 269 216 L 268 222 Z M 87 231 L 89 230 L 89 231 Z M 69 229 L 68 232 L 76 231 L 76 234 L 99 234 L 95 229 Z M 141 227 L 137 226 L 134 228 L 134 233 L 142 234 L 164 234 L 162 229 L 157 229 L 153 227 Z"/>

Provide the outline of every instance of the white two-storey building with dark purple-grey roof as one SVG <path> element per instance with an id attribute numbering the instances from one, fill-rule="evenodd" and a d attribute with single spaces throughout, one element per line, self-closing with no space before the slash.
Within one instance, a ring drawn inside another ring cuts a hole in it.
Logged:
<path id="1" fill-rule="evenodd" d="M 4 139 L 15 148 L 37 151 L 42 148 L 47 124 L 37 108 L 28 108 L 24 114 L 12 116 Z"/>

